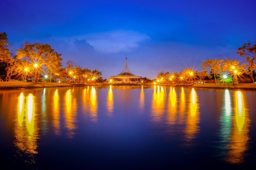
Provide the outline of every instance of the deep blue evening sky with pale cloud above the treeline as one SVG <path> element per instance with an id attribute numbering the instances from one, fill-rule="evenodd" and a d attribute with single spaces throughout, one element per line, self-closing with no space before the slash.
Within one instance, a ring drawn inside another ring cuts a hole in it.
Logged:
<path id="1" fill-rule="evenodd" d="M 0 32 L 18 49 L 50 44 L 65 61 L 117 75 L 200 71 L 202 60 L 243 61 L 236 49 L 256 41 L 255 0 L 0 0 Z"/>

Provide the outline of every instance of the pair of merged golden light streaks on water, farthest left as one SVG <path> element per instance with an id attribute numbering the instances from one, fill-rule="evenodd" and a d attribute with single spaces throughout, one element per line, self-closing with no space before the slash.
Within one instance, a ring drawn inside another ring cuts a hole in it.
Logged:
<path id="1" fill-rule="evenodd" d="M 38 128 L 35 116 L 34 96 L 29 94 L 26 98 L 23 93 L 18 97 L 18 114 L 14 119 L 14 144 L 22 151 L 20 154 L 27 154 L 30 163 L 35 163 L 34 154 L 37 154 Z M 25 121 L 24 121 L 25 119 Z"/>

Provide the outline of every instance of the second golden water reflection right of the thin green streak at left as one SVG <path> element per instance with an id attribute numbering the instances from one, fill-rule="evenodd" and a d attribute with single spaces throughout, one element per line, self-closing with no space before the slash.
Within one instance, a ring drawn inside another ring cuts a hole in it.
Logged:
<path id="1" fill-rule="evenodd" d="M 75 126 L 76 115 L 76 98 L 73 99 L 71 89 L 66 92 L 66 109 L 65 109 L 65 122 L 68 130 L 67 136 L 72 138 L 74 136 L 73 130 Z"/>

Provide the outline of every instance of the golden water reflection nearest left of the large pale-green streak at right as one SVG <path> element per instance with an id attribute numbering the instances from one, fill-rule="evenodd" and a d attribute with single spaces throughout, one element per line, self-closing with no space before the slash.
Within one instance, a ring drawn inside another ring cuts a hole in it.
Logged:
<path id="1" fill-rule="evenodd" d="M 199 105 L 197 98 L 197 94 L 194 88 L 192 88 L 190 94 L 189 115 L 187 116 L 187 128 L 185 131 L 187 141 L 194 139 L 198 132 Z"/>

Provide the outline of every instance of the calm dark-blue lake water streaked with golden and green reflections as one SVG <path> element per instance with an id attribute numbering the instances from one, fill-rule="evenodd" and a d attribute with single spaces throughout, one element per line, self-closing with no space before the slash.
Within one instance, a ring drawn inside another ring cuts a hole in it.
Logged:
<path id="1" fill-rule="evenodd" d="M 256 158 L 256 91 L 0 91 L 0 137 L 0 163 L 7 169 L 250 169 Z"/>

